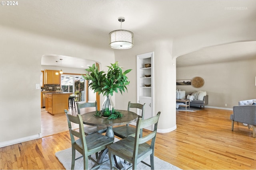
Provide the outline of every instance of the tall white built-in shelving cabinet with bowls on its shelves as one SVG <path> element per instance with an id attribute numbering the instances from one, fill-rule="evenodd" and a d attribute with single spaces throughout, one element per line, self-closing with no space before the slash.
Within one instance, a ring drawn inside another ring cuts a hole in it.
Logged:
<path id="1" fill-rule="evenodd" d="M 146 103 L 144 119 L 148 119 L 154 116 L 154 52 L 137 55 L 136 57 L 137 103 Z M 145 64 L 148 65 L 145 66 Z M 152 127 L 146 129 L 152 130 Z"/>

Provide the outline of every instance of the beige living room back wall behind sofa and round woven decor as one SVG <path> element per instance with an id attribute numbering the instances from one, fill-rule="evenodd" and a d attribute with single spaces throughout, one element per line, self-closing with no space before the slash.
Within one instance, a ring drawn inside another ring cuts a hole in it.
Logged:
<path id="1" fill-rule="evenodd" d="M 178 67 L 177 80 L 200 76 L 204 78 L 204 86 L 177 86 L 177 89 L 185 90 L 186 94 L 198 90 L 206 91 L 209 96 L 208 106 L 232 109 L 241 100 L 256 98 L 255 65 L 256 59 Z"/>

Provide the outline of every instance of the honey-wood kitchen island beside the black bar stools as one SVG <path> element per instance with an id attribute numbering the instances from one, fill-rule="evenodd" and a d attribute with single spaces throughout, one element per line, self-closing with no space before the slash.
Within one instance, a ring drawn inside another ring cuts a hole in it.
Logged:
<path id="1" fill-rule="evenodd" d="M 56 93 L 46 92 L 45 93 L 45 109 L 52 115 L 65 113 L 64 109 L 68 110 L 68 97 L 73 94 L 69 92 Z"/>

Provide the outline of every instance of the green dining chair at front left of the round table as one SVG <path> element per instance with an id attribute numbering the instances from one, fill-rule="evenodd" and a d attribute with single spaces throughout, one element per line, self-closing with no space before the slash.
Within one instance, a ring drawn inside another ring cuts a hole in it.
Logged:
<path id="1" fill-rule="evenodd" d="M 100 165 L 103 164 L 104 162 L 99 163 L 96 160 L 94 160 L 90 155 L 106 149 L 108 145 L 114 142 L 114 139 L 111 139 L 100 133 L 92 133 L 90 135 L 85 136 L 82 116 L 80 114 L 76 116 L 70 115 L 66 109 L 65 109 L 65 113 L 68 120 L 68 129 L 70 132 L 70 138 L 71 138 L 71 144 L 72 144 L 71 169 L 72 170 L 74 169 L 75 160 L 78 160 L 79 158 L 82 158 L 82 157 L 84 159 L 84 169 L 88 169 L 89 158 L 94 163 L 96 163 L 96 165 L 93 168 L 96 169 L 100 167 Z M 79 125 L 79 131 L 72 128 L 71 122 Z M 77 137 L 78 139 L 75 140 L 75 137 Z M 80 154 L 82 154 L 82 156 L 80 156 L 79 158 L 75 158 L 76 150 L 80 152 Z"/>

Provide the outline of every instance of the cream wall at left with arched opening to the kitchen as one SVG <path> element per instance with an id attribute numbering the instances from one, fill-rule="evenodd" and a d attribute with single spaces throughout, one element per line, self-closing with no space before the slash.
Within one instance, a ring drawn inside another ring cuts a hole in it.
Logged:
<path id="1" fill-rule="evenodd" d="M 114 63 L 112 50 L 43 37 L 0 26 L 0 147 L 39 137 L 41 133 L 40 84 L 42 55 L 59 54 Z M 102 100 L 101 100 L 102 101 Z"/>

